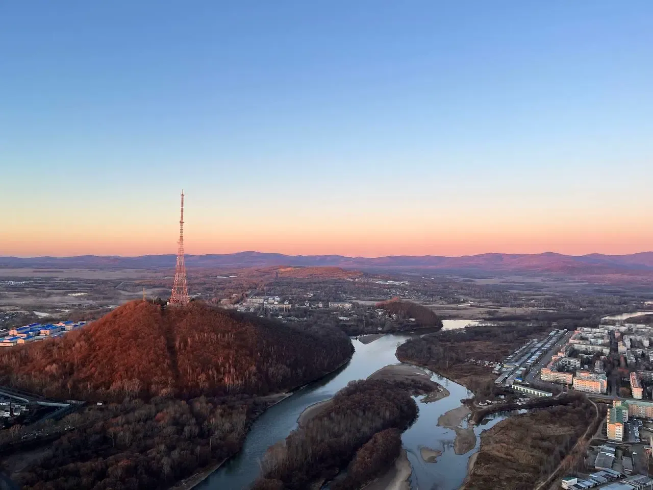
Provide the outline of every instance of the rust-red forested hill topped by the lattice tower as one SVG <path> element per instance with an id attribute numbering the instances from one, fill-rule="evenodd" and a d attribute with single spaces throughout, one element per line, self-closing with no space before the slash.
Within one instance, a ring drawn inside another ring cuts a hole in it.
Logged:
<path id="1" fill-rule="evenodd" d="M 352 349 L 337 329 L 134 301 L 80 331 L 4 351 L 0 382 L 82 400 L 267 395 L 319 378 Z"/>

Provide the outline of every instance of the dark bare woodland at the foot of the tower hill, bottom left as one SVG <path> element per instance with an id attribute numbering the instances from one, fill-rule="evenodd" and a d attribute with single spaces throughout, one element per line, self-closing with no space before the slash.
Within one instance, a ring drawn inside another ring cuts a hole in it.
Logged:
<path id="1" fill-rule="evenodd" d="M 16 480 L 25 490 L 163 489 L 240 449 L 255 398 L 155 397 L 89 409 Z M 48 429 L 48 430 L 53 430 Z"/>

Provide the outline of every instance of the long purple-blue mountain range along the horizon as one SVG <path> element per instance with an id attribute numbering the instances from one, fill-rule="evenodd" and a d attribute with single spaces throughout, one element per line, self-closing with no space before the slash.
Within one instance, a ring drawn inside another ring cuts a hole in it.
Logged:
<path id="1" fill-rule="evenodd" d="M 653 272 L 653 252 L 629 255 L 563 255 L 562 253 L 483 253 L 445 257 L 441 255 L 284 255 L 283 253 L 238 252 L 186 255 L 187 267 L 330 266 L 343 269 L 449 269 L 488 271 L 533 271 L 561 273 Z M 90 269 L 174 269 L 175 255 L 77 255 L 75 257 L 0 257 L 0 267 L 54 267 Z"/>

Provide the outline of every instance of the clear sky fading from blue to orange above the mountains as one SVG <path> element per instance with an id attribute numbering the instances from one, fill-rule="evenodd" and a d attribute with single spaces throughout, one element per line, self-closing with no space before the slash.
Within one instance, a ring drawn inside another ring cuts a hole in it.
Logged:
<path id="1" fill-rule="evenodd" d="M 0 255 L 653 249 L 653 2 L 0 5 Z M 8 219 L 7 219 L 8 218 Z"/>

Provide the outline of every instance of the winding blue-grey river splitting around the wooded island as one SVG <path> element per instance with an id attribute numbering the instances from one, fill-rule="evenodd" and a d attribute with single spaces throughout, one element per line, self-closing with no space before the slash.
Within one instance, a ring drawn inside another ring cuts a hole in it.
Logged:
<path id="1" fill-rule="evenodd" d="M 445 329 L 461 328 L 472 320 L 445 320 Z M 367 378 L 376 370 L 389 364 L 399 364 L 394 353 L 399 344 L 406 342 L 410 334 L 386 335 L 370 344 L 352 340 L 356 349 L 351 361 L 338 372 L 330 374 L 317 382 L 307 385 L 293 393 L 291 397 L 272 406 L 251 426 L 240 453 L 197 485 L 200 490 L 241 490 L 246 489 L 259 474 L 259 461 L 266 449 L 283 440 L 297 427 L 297 419 L 309 406 L 330 399 L 351 380 Z M 436 402 L 421 403 L 422 397 L 415 397 L 419 416 L 415 423 L 402 435 L 402 442 L 413 468 L 411 474 L 412 490 L 455 490 L 462 484 L 467 474 L 470 456 L 478 451 L 481 431 L 489 429 L 505 418 L 496 416 L 474 428 L 477 435 L 476 446 L 464 455 L 454 453 L 456 434 L 451 429 L 438 427 L 438 417 L 460 406 L 460 400 L 471 397 L 470 391 L 453 381 L 433 375 L 434 380 L 445 386 L 451 395 Z M 462 427 L 466 427 L 466 422 Z M 420 449 L 427 447 L 443 451 L 436 463 L 422 460 Z"/>

